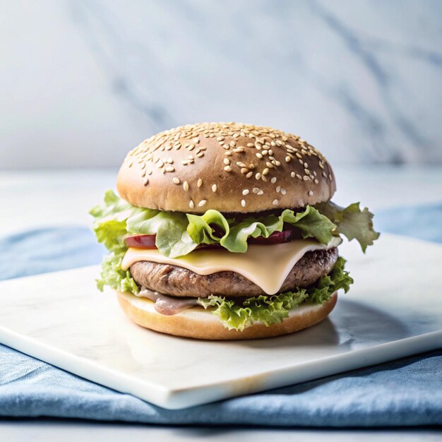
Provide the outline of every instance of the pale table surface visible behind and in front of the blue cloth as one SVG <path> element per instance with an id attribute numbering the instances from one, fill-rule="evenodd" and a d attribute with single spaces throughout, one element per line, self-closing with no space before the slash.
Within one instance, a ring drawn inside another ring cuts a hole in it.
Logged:
<path id="1" fill-rule="evenodd" d="M 442 166 L 335 167 L 340 204 L 361 201 L 374 213 L 395 205 L 434 203 L 442 199 Z M 115 170 L 29 170 L 0 172 L 0 232 L 11 234 L 48 225 L 90 225 L 88 210 L 99 203 L 105 190 L 114 187 Z M 376 223 L 376 220 L 375 220 Z M 78 422 L 62 419 L 1 419 L 0 439 L 47 441 L 61 436 L 65 442 L 113 441 L 122 436 L 131 441 L 187 441 L 210 438 L 229 441 L 261 441 L 301 438 L 305 441 L 440 440 L 437 429 L 316 430 L 161 427 L 138 424 Z"/>

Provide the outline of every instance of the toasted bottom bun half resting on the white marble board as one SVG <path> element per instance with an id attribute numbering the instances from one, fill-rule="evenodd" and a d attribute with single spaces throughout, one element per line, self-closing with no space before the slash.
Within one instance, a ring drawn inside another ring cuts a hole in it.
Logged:
<path id="1" fill-rule="evenodd" d="M 220 320 L 203 307 L 194 307 L 180 311 L 172 316 L 165 316 L 154 309 L 153 301 L 136 297 L 127 292 L 117 292 L 121 308 L 138 325 L 169 335 L 185 338 L 232 340 L 273 338 L 287 335 L 323 321 L 338 300 L 338 294 L 324 304 L 301 304 L 289 312 L 289 317 L 281 323 L 269 325 L 256 323 L 243 331 L 228 330 Z"/>

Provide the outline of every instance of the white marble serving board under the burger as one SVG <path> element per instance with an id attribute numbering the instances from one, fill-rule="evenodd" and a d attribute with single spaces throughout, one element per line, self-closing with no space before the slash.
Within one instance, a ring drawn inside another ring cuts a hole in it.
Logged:
<path id="1" fill-rule="evenodd" d="M 442 347 L 442 246 L 383 234 L 341 254 L 355 284 L 294 335 L 209 342 L 134 325 L 97 266 L 0 283 L 0 342 L 169 409 L 255 393 Z"/>

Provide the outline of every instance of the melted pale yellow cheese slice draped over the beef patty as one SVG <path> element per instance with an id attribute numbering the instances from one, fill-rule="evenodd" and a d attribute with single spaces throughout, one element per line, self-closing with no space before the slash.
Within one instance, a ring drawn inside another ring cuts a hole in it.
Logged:
<path id="1" fill-rule="evenodd" d="M 293 266 L 311 250 L 328 249 L 337 244 L 320 244 L 299 239 L 283 244 L 249 244 L 246 253 L 232 253 L 226 249 L 198 249 L 179 258 L 169 258 L 157 249 L 128 249 L 122 268 L 127 270 L 138 261 L 172 264 L 191 270 L 198 275 L 229 270 L 243 275 L 261 287 L 267 294 L 280 291 L 282 283 Z"/>

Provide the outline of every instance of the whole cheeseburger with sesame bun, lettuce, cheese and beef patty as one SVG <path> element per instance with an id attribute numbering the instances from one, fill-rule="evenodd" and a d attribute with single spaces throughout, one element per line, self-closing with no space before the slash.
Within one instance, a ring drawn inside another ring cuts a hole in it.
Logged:
<path id="1" fill-rule="evenodd" d="M 157 133 L 119 169 L 117 196 L 90 210 L 129 318 L 209 340 L 293 333 L 328 316 L 353 280 L 342 237 L 373 244 L 373 214 L 331 200 L 325 157 L 292 133 L 204 123 Z"/>

